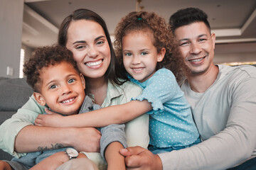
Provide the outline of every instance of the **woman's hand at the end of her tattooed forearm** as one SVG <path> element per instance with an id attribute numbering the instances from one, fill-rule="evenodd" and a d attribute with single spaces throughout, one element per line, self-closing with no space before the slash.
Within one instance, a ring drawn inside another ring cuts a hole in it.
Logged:
<path id="1" fill-rule="evenodd" d="M 72 140 L 71 146 L 78 152 L 100 152 L 101 133 L 96 128 L 74 128 L 72 136 L 68 140 Z"/>

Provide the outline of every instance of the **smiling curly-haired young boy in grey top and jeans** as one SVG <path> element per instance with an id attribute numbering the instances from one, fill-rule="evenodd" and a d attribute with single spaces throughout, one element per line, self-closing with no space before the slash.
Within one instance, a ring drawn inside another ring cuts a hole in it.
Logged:
<path id="1" fill-rule="evenodd" d="M 85 113 L 100 108 L 85 96 L 85 79 L 73 60 L 73 53 L 65 47 L 54 45 L 38 48 L 35 55 L 24 64 L 23 72 L 27 76 L 28 84 L 34 90 L 33 97 L 41 106 L 46 106 L 62 115 Z M 110 125 L 100 130 L 102 132 L 100 152 L 102 157 L 106 155 L 108 168 L 125 169 L 124 158 L 119 154 L 120 148 L 127 147 L 124 125 Z M 113 130 L 116 135 L 110 134 Z M 47 166 L 56 169 L 68 159 L 78 159 L 88 154 L 78 153 L 71 147 L 38 150 L 19 159 L 14 158 L 8 163 L 13 169 L 20 169 L 21 166 L 23 169 L 31 167 L 47 169 Z M 110 150 L 111 154 L 107 154 Z M 39 162 L 41 163 L 38 164 Z M 10 166 L 7 166 L 7 169 L 11 169 Z"/>

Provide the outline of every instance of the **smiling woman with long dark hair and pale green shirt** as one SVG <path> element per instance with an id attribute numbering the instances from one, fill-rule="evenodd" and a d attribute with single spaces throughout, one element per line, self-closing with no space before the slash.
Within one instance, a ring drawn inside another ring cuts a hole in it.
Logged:
<path id="1" fill-rule="evenodd" d="M 78 69 L 85 76 L 86 94 L 102 107 L 127 103 L 142 90 L 124 79 L 119 69 L 107 26 L 97 13 L 78 9 L 60 26 L 58 44 L 71 50 Z M 128 93 L 129 92 L 129 93 Z M 25 152 L 58 147 L 99 152 L 100 132 L 95 128 L 49 128 L 33 125 L 44 108 L 33 97 L 0 127 L 0 148 L 16 157 Z M 127 145 L 147 147 L 148 117 L 126 123 Z M 93 155 L 94 156 L 94 155 Z M 87 157 L 92 159 L 88 154 Z"/>

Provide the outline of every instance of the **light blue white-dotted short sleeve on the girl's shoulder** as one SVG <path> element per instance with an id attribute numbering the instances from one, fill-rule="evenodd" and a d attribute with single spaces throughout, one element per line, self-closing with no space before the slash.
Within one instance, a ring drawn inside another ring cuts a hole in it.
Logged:
<path id="1" fill-rule="evenodd" d="M 168 69 L 160 69 L 147 81 L 142 95 L 132 99 L 139 101 L 146 99 L 151 103 L 154 111 L 159 111 L 164 110 L 164 103 L 176 98 L 179 90 L 174 74 Z M 155 113 L 154 111 L 149 114 Z"/>

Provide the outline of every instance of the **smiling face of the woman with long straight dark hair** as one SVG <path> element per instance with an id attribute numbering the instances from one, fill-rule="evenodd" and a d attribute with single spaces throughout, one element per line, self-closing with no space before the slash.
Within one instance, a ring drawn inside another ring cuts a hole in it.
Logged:
<path id="1" fill-rule="evenodd" d="M 105 32 L 95 21 L 72 21 L 66 47 L 73 52 L 78 69 L 87 78 L 104 77 L 110 65 L 110 46 Z"/>

